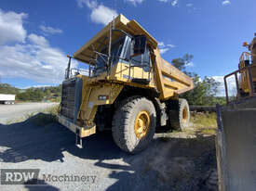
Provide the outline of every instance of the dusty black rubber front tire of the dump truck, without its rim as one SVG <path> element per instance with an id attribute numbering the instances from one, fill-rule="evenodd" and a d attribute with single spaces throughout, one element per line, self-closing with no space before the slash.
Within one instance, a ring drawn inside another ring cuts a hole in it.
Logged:
<path id="1" fill-rule="evenodd" d="M 150 116 L 150 126 L 141 139 L 135 134 L 134 123 L 137 115 L 146 110 Z M 115 110 L 112 134 L 115 144 L 122 150 L 135 154 L 149 146 L 155 134 L 156 114 L 154 104 L 145 97 L 131 96 Z"/>

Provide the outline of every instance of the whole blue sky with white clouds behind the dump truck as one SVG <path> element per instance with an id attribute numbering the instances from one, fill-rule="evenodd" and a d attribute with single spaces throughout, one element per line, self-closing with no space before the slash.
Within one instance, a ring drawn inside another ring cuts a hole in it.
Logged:
<path id="1" fill-rule="evenodd" d="M 168 61 L 192 54 L 188 70 L 222 81 L 256 32 L 255 10 L 255 0 L 2 0 L 1 82 L 61 83 L 66 55 L 119 13 L 139 21 Z"/>

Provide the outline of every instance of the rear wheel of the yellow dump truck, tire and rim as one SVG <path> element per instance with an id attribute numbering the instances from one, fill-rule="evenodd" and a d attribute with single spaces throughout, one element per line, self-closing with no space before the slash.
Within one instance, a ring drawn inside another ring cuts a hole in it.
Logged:
<path id="1" fill-rule="evenodd" d="M 172 104 L 169 110 L 170 126 L 178 131 L 183 131 L 189 125 L 190 111 L 187 100 L 179 99 Z"/>

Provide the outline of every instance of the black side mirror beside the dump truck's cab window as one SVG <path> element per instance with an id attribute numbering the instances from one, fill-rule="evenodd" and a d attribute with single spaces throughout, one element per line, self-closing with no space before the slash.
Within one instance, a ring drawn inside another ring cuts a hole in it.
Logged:
<path id="1" fill-rule="evenodd" d="M 130 57 L 136 57 L 142 55 L 146 49 L 147 37 L 144 35 L 136 35 L 132 41 L 132 50 Z"/>

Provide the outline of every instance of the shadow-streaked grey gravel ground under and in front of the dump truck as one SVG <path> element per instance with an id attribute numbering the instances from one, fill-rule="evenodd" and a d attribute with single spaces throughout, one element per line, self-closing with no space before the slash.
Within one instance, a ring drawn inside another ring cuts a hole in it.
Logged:
<path id="1" fill-rule="evenodd" d="M 79 149 L 74 134 L 58 123 L 2 124 L 0 168 L 40 172 L 39 185 L 0 185 L 0 190 L 217 190 L 214 136 L 166 135 L 156 134 L 149 148 L 128 155 L 110 133 L 85 138 Z M 74 176 L 80 180 L 72 182 Z"/>

